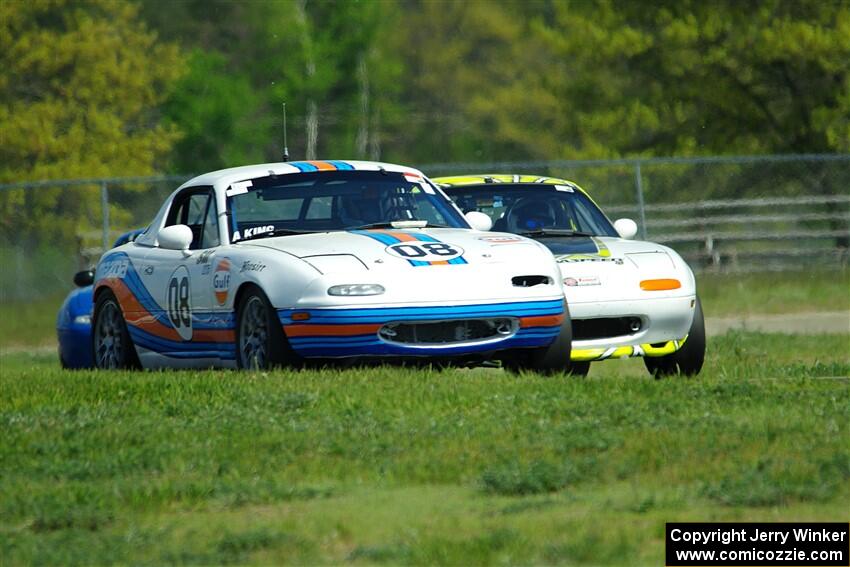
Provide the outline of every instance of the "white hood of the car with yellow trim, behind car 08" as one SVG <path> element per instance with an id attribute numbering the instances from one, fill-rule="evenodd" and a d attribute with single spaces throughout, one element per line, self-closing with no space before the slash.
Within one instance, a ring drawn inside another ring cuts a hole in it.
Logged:
<path id="1" fill-rule="evenodd" d="M 670 248 L 607 236 L 543 238 L 561 269 L 568 301 L 617 301 L 694 293 L 693 274 Z M 648 279 L 677 279 L 675 290 L 644 291 Z"/>

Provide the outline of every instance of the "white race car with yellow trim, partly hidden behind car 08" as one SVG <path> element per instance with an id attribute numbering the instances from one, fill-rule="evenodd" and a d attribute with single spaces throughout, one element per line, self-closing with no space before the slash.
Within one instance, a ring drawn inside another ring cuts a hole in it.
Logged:
<path id="1" fill-rule="evenodd" d="M 611 223 L 578 185 L 531 175 L 435 178 L 493 228 L 544 243 L 561 266 L 573 325 L 572 372 L 590 362 L 642 356 L 654 375 L 694 375 L 705 329 L 694 275 L 674 250 L 631 240 L 637 225 Z"/>

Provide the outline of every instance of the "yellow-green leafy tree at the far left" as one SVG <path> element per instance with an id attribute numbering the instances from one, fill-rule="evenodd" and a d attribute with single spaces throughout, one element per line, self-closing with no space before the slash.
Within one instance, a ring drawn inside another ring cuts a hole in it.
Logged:
<path id="1" fill-rule="evenodd" d="M 145 175 L 163 164 L 178 133 L 157 107 L 182 60 L 137 12 L 106 0 L 0 4 L 0 181 Z M 85 188 L 4 191 L 0 232 L 72 237 L 98 201 Z"/>

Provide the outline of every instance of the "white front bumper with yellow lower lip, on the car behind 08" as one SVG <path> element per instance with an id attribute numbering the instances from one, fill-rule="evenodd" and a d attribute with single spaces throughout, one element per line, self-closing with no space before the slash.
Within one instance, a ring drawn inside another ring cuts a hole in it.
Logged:
<path id="1" fill-rule="evenodd" d="M 581 338 L 574 335 L 570 358 L 574 361 L 592 361 L 631 356 L 664 356 L 676 352 L 690 331 L 695 301 L 695 295 L 686 295 L 570 303 L 570 315 L 574 322 L 599 318 L 634 318 L 641 323 L 636 332 L 614 336 Z"/>

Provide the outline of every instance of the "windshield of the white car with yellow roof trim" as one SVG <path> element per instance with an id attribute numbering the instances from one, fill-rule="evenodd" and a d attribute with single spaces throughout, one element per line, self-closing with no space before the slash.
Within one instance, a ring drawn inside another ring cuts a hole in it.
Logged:
<path id="1" fill-rule="evenodd" d="M 568 185 L 493 183 L 446 187 L 444 191 L 464 213 L 489 215 L 494 231 L 531 236 L 617 236 L 599 207 Z"/>

